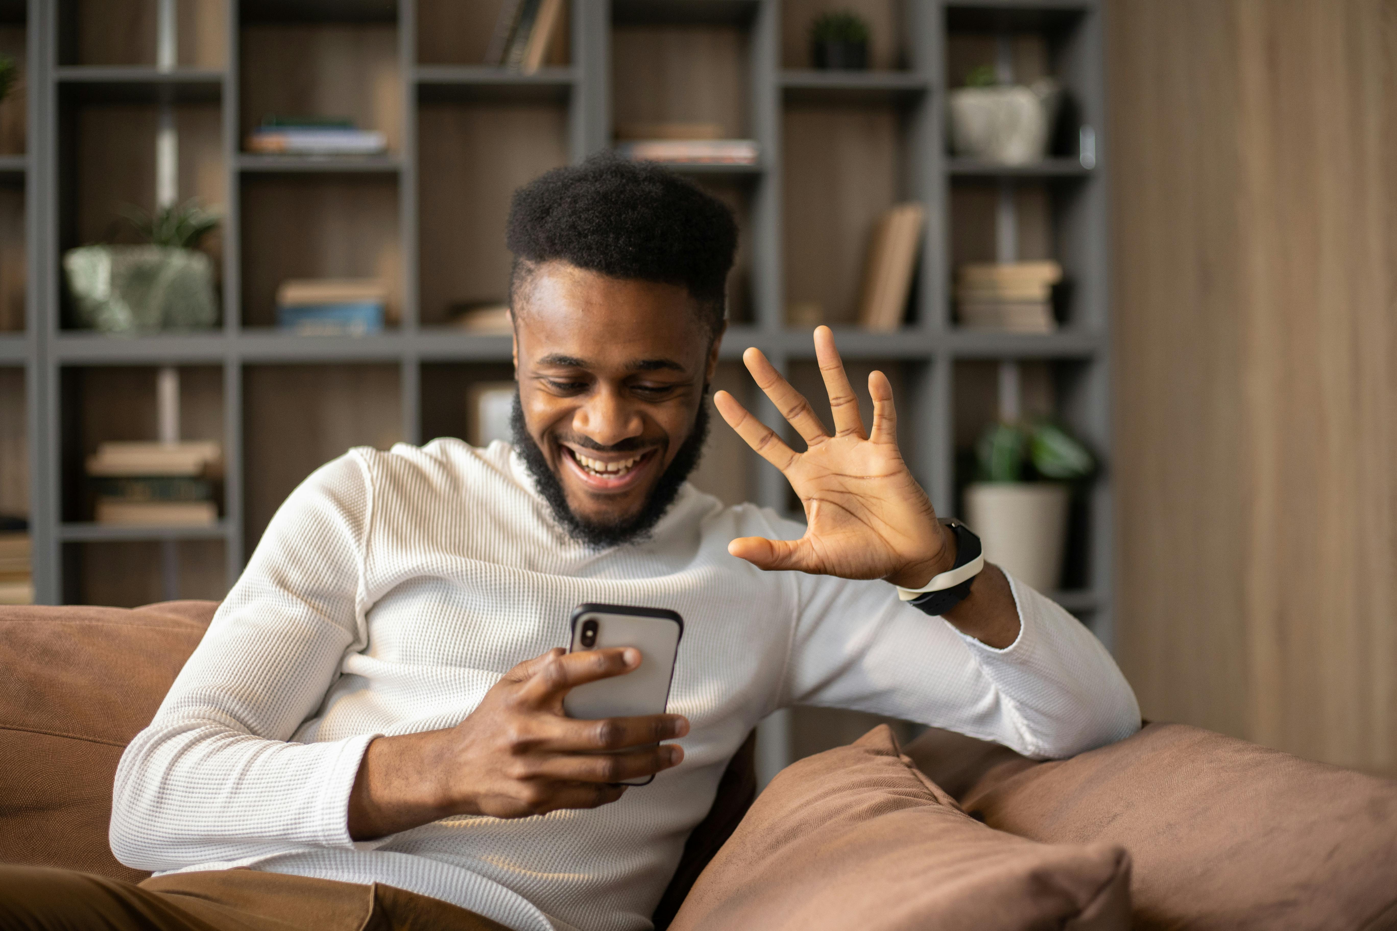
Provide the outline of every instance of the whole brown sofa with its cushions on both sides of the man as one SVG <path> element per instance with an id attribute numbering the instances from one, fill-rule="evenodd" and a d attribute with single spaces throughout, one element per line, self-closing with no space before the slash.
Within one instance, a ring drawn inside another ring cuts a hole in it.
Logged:
<path id="1" fill-rule="evenodd" d="M 0 609 L 0 863 L 144 877 L 112 776 L 214 607 Z M 1193 727 L 1053 762 L 880 729 L 753 793 L 749 741 L 657 925 L 1397 928 L 1397 783 Z"/>

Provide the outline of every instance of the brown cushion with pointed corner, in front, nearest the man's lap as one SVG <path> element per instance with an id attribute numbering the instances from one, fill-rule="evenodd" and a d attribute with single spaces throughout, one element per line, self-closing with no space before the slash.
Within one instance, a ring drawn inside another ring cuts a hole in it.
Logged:
<path id="1" fill-rule="evenodd" d="M 1125 928 L 1129 856 L 974 821 L 887 726 L 782 770 L 694 884 L 672 931 Z"/>

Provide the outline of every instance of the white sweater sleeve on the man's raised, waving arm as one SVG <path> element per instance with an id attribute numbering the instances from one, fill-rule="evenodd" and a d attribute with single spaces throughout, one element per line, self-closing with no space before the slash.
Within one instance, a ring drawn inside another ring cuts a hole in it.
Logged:
<path id="1" fill-rule="evenodd" d="M 1101 642 L 1051 599 L 1011 576 L 1010 586 L 1020 632 L 995 649 L 886 582 L 798 575 L 788 701 L 902 717 L 1039 759 L 1137 731 L 1134 692 Z"/>

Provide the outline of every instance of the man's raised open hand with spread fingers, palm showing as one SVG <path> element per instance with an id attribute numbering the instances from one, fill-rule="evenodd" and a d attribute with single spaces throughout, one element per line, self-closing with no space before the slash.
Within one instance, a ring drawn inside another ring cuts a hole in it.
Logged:
<path id="1" fill-rule="evenodd" d="M 742 356 L 757 385 L 805 440 L 805 452 L 795 452 L 728 392 L 714 395 L 728 426 L 780 469 L 800 496 L 807 521 L 799 540 L 749 536 L 729 543 L 728 551 L 763 569 L 887 579 L 919 588 L 951 567 L 954 551 L 897 447 L 893 385 L 882 371 L 869 375 L 873 429 L 865 433 L 858 398 L 828 327 L 816 328 L 814 352 L 830 392 L 834 435 L 761 350 L 747 349 Z"/>

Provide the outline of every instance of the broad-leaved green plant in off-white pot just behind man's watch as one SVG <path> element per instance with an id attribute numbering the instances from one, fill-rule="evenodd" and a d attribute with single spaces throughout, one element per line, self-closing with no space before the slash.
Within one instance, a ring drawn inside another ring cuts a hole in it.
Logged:
<path id="1" fill-rule="evenodd" d="M 965 522 L 985 558 L 1041 592 L 1062 581 L 1073 482 L 1095 469 L 1084 445 L 1049 420 L 995 423 L 975 447 L 978 480 Z"/>

